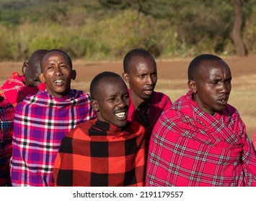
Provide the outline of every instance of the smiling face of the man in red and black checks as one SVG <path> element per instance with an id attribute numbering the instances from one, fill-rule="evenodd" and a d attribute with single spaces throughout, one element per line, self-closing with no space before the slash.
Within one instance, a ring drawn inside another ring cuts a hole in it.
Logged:
<path id="1" fill-rule="evenodd" d="M 121 78 L 103 78 L 95 89 L 97 101 L 92 106 L 100 121 L 122 128 L 126 125 L 130 98 L 127 86 Z"/>

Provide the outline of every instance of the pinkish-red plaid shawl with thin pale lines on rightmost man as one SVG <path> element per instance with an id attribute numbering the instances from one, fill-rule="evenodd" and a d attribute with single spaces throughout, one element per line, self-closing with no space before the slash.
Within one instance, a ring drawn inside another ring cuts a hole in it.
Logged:
<path id="1" fill-rule="evenodd" d="M 182 96 L 160 116 L 149 145 L 146 186 L 255 186 L 256 157 L 230 105 L 208 115 Z"/>

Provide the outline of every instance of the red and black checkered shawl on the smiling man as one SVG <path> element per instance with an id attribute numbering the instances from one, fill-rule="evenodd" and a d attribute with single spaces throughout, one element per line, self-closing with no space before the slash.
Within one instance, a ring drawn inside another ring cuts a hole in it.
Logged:
<path id="1" fill-rule="evenodd" d="M 144 137 L 137 122 L 124 128 L 97 119 L 81 123 L 61 142 L 53 186 L 143 186 Z"/>

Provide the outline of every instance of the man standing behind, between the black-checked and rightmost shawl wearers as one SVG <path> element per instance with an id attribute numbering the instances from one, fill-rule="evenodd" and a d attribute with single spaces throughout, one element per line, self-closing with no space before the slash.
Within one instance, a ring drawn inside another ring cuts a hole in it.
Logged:
<path id="1" fill-rule="evenodd" d="M 149 52 L 134 49 L 123 60 L 123 79 L 130 85 L 131 106 L 128 121 L 138 121 L 146 128 L 146 147 L 162 111 L 172 105 L 164 93 L 155 92 L 156 62 Z"/>

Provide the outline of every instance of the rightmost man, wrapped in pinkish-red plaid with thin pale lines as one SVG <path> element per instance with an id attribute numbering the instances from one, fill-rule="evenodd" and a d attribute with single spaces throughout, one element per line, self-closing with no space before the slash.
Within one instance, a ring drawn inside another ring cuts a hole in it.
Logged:
<path id="1" fill-rule="evenodd" d="M 199 55 L 190 62 L 187 85 L 187 95 L 154 126 L 146 186 L 255 186 L 255 152 L 238 111 L 227 103 L 229 66 Z"/>

